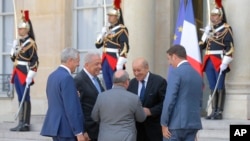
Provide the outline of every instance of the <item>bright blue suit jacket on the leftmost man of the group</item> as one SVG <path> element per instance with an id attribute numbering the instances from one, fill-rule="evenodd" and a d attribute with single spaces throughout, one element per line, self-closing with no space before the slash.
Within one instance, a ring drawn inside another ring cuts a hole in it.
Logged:
<path id="1" fill-rule="evenodd" d="M 83 113 L 74 80 L 69 72 L 58 67 L 47 81 L 48 110 L 41 135 L 75 137 L 84 132 Z"/>

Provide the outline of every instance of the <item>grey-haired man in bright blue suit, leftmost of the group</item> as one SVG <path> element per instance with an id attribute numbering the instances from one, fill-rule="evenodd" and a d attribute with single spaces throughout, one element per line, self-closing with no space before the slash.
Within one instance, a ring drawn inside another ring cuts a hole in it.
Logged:
<path id="1" fill-rule="evenodd" d="M 65 48 L 61 53 L 60 67 L 49 75 L 47 81 L 48 110 L 41 135 L 50 136 L 53 141 L 85 141 L 83 113 L 71 76 L 79 61 L 76 49 Z"/>

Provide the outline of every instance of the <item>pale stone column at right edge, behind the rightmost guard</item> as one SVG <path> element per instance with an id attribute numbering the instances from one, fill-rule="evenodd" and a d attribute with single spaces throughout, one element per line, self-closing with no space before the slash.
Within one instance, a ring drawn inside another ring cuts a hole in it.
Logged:
<path id="1" fill-rule="evenodd" d="M 227 22 L 233 28 L 235 52 L 226 78 L 224 118 L 250 119 L 250 17 L 248 0 L 223 1 Z M 240 15 L 240 17 L 239 17 Z"/>

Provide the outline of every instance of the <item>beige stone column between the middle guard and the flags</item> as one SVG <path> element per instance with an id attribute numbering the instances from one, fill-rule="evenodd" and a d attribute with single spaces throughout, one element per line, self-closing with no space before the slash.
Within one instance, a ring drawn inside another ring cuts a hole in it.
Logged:
<path id="1" fill-rule="evenodd" d="M 168 62 L 166 50 L 173 40 L 173 28 L 175 27 L 174 14 L 177 5 L 172 0 L 157 0 L 155 14 L 155 46 L 154 46 L 154 71 L 166 78 Z"/>

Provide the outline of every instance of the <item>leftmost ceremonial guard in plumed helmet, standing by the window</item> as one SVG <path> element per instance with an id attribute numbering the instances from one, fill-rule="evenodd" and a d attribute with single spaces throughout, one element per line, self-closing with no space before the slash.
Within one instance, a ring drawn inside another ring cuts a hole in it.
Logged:
<path id="1" fill-rule="evenodd" d="M 14 62 L 11 83 L 15 85 L 20 111 L 18 125 L 10 130 L 29 131 L 31 114 L 29 87 L 34 83 L 33 78 L 38 67 L 37 46 L 29 19 L 29 11 L 22 11 L 22 19 L 17 28 L 18 37 L 13 41 L 11 49 L 11 60 Z M 22 99 L 24 99 L 23 104 Z"/>

